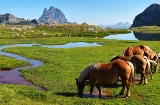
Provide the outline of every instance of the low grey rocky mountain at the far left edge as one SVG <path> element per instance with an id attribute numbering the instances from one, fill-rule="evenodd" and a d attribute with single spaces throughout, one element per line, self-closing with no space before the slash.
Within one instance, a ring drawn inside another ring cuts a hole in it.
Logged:
<path id="1" fill-rule="evenodd" d="M 23 18 L 18 18 L 12 14 L 6 13 L 3 15 L 0 15 L 0 23 L 6 24 L 6 23 L 18 23 L 21 21 L 25 21 Z"/>

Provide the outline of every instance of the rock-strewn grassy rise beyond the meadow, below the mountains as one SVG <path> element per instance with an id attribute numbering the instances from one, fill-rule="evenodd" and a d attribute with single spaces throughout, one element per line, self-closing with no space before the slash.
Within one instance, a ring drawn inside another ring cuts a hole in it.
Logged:
<path id="1" fill-rule="evenodd" d="M 0 38 L 43 38 L 43 37 L 104 37 L 116 33 L 129 33 L 124 29 L 104 29 L 87 24 L 53 25 L 1 25 Z"/>

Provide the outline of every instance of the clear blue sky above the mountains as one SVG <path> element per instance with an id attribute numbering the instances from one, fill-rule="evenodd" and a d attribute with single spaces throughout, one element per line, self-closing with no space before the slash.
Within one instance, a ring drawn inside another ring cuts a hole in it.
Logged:
<path id="1" fill-rule="evenodd" d="M 134 17 L 160 0 L 0 0 L 0 14 L 11 13 L 19 18 L 38 19 L 44 8 L 60 9 L 69 22 L 93 25 L 133 23 Z"/>

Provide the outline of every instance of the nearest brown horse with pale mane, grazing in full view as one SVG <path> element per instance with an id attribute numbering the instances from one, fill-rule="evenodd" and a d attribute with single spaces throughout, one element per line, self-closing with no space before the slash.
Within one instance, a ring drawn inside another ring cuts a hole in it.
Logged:
<path id="1" fill-rule="evenodd" d="M 80 76 L 76 78 L 78 95 L 83 95 L 85 81 L 90 83 L 90 96 L 92 96 L 93 88 L 96 86 L 99 91 L 99 98 L 102 97 L 100 83 L 111 84 L 122 79 L 122 90 L 119 95 L 124 94 L 125 86 L 127 87 L 126 97 L 130 96 L 130 83 L 134 83 L 134 67 L 132 63 L 123 60 L 115 60 L 108 64 L 92 64 L 87 66 Z"/>

